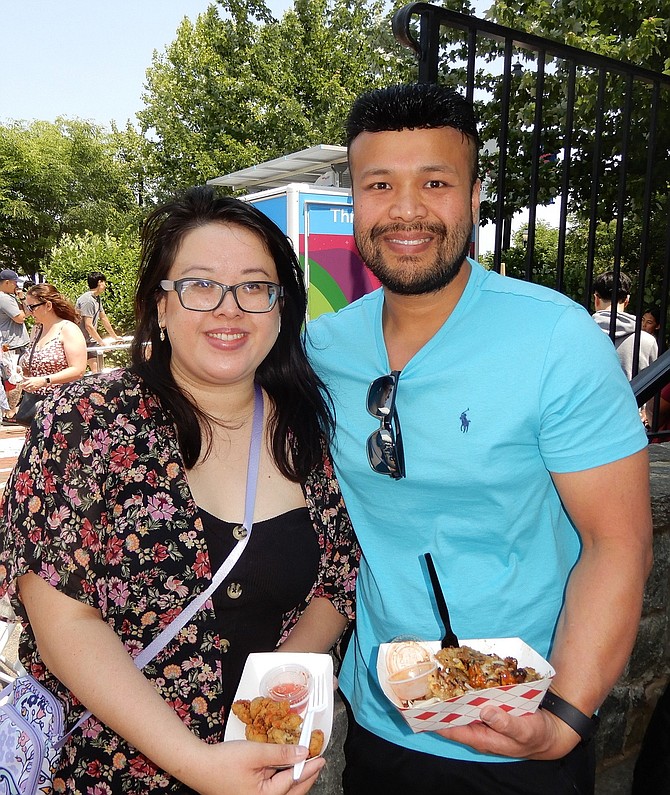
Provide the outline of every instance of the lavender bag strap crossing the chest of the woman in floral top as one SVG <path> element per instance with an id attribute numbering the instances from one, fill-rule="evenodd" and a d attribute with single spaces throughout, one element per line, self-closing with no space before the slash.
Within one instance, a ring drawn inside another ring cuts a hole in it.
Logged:
<path id="1" fill-rule="evenodd" d="M 247 531 L 244 538 L 241 538 L 233 547 L 231 553 L 219 566 L 216 574 L 212 577 L 209 586 L 181 611 L 165 629 L 159 633 L 151 643 L 133 659 L 138 668 L 153 660 L 153 658 L 177 635 L 193 616 L 200 610 L 205 602 L 211 597 L 221 583 L 230 574 L 231 569 L 240 559 L 246 545 L 251 538 L 251 528 L 254 522 L 254 506 L 256 504 L 256 486 L 258 484 L 258 467 L 261 457 L 261 441 L 263 439 L 263 391 L 258 384 L 255 384 L 254 395 L 254 419 L 251 426 L 251 444 L 249 445 L 249 463 L 247 465 L 247 493 L 244 501 L 244 528 Z M 85 712 L 70 731 L 56 744 L 60 748 L 65 744 L 67 738 L 76 731 L 84 721 L 91 716 L 89 711 Z"/>

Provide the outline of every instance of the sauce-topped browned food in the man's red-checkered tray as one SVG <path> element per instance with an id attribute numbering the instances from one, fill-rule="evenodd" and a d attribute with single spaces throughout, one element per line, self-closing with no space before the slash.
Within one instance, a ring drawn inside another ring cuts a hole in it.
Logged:
<path id="1" fill-rule="evenodd" d="M 431 675 L 430 696 L 446 701 L 472 690 L 535 682 L 540 675 L 534 668 L 519 668 L 514 657 L 484 654 L 470 646 L 440 649 L 435 659 L 438 668 Z"/>

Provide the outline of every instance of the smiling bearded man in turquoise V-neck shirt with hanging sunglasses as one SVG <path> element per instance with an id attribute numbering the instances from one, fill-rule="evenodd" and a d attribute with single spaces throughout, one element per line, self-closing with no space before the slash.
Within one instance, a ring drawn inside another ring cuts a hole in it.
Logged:
<path id="1" fill-rule="evenodd" d="M 356 243 L 383 288 L 308 327 L 361 545 L 339 674 L 345 792 L 592 792 L 591 716 L 626 664 L 651 566 L 632 390 L 583 307 L 467 258 L 480 188 L 470 103 L 435 84 L 373 91 L 354 103 L 347 140 Z M 370 416 L 388 380 L 397 416 Z M 456 634 L 518 636 L 548 657 L 562 717 L 547 701 L 533 715 L 486 707 L 469 726 L 409 731 L 376 659 L 399 635 L 444 634 L 426 552 Z"/>

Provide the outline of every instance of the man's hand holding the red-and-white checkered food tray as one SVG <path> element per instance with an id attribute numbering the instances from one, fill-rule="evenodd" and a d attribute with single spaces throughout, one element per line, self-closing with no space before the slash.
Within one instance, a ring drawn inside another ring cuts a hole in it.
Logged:
<path id="1" fill-rule="evenodd" d="M 560 718 L 543 709 L 513 717 L 499 707 L 484 707 L 481 723 L 441 729 L 447 740 L 477 751 L 518 759 L 560 759 L 579 742 L 579 735 Z"/>

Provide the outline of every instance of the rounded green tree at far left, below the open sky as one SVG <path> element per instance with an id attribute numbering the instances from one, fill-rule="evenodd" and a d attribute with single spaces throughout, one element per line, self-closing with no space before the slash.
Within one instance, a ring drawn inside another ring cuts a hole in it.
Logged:
<path id="1" fill-rule="evenodd" d="M 65 234 L 122 230 L 137 221 L 127 164 L 89 122 L 0 126 L 0 261 L 44 267 Z"/>

